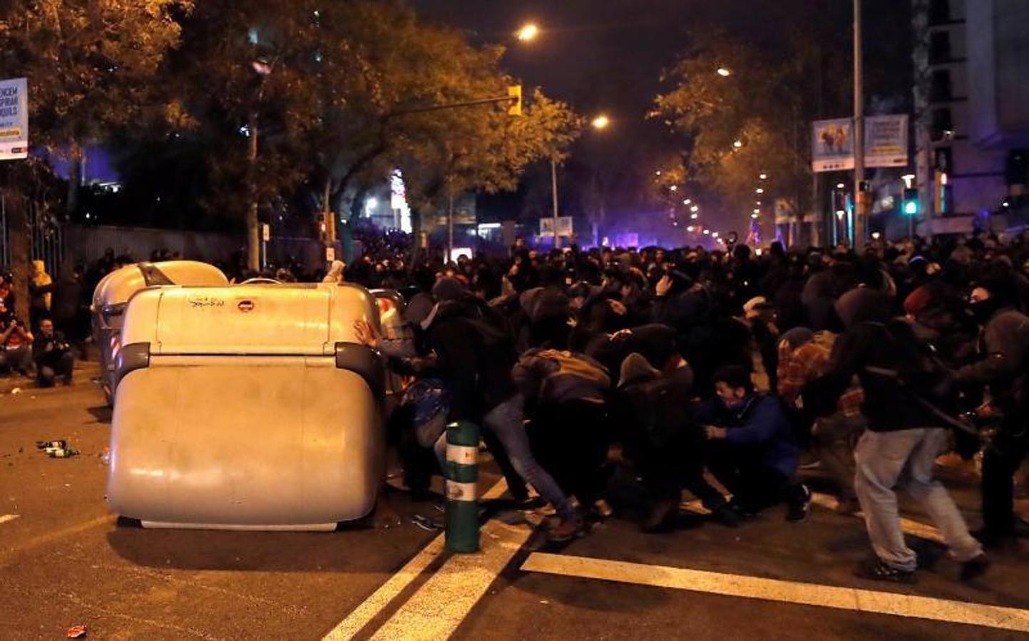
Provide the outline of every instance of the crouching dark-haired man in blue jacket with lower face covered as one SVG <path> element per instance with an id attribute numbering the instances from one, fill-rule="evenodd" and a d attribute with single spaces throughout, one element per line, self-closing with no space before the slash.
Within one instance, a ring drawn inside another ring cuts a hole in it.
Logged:
<path id="1" fill-rule="evenodd" d="M 786 520 L 804 521 L 811 492 L 796 480 L 800 451 L 779 401 L 754 393 L 741 367 L 722 368 L 713 381 L 717 398 L 694 416 L 706 425 L 708 469 L 732 492 L 731 504 L 741 515 L 785 502 Z"/>

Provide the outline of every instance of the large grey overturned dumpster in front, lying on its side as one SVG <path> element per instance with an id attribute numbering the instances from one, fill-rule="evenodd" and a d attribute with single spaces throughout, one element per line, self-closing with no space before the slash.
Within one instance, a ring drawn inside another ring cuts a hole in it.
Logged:
<path id="1" fill-rule="evenodd" d="M 107 500 L 144 527 L 332 529 L 375 507 L 384 367 L 363 288 L 156 288 L 129 303 Z"/>

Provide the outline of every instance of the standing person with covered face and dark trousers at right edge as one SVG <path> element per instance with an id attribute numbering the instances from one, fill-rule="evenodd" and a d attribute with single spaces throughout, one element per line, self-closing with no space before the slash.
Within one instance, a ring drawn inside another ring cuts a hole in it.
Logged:
<path id="1" fill-rule="evenodd" d="M 1016 546 L 1014 477 L 1029 453 L 1029 316 L 1015 308 L 1009 275 L 996 274 L 972 290 L 969 307 L 982 325 L 980 359 L 954 374 L 962 386 L 990 389 L 1000 425 L 983 455 L 983 529 L 987 548 Z"/>

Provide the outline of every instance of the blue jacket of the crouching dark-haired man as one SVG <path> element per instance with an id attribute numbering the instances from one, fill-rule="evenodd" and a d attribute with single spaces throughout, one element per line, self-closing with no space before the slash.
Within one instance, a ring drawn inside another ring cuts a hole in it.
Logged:
<path id="1" fill-rule="evenodd" d="M 739 408 L 728 408 L 720 400 L 713 399 L 694 411 L 694 420 L 725 427 L 728 443 L 756 449 L 764 464 L 787 478 L 796 474 L 800 450 L 777 399 L 751 394 Z"/>

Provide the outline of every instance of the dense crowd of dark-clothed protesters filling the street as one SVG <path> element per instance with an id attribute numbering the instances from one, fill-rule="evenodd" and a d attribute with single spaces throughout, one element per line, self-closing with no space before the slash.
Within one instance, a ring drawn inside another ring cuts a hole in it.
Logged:
<path id="1" fill-rule="evenodd" d="M 1014 479 L 1029 452 L 1026 238 L 874 243 L 862 255 L 779 243 L 536 251 L 520 239 L 504 259 L 456 262 L 413 255 L 397 234 L 360 240 L 349 265 L 260 275 L 403 295 L 402 326 L 355 330 L 406 381 L 390 433 L 415 495 L 431 496 L 445 466 L 445 426 L 469 420 L 513 499 L 553 508 L 556 541 L 611 515 L 610 480 L 625 468 L 641 484 L 647 532 L 674 527 L 683 490 L 726 527 L 775 505 L 803 522 L 805 453 L 831 478 L 839 510 L 863 514 L 875 554 L 860 576 L 915 578 L 897 489 L 935 522 L 962 579 L 987 570 L 984 549 L 1025 534 Z M 258 275 L 238 259 L 220 265 L 235 281 Z M 69 380 L 63 354 L 85 339 L 91 286 L 129 262 L 109 252 L 56 282 L 36 265 L 31 326 L 12 315 L 8 276 L 0 369 Z M 933 479 L 946 451 L 982 457 L 974 532 Z"/>

